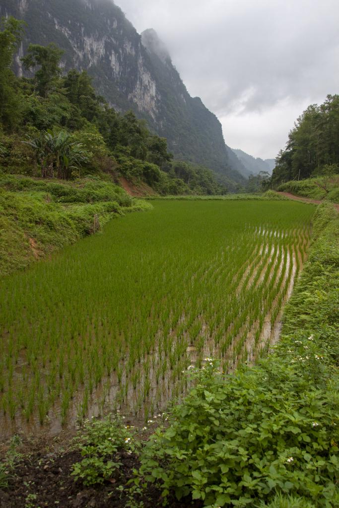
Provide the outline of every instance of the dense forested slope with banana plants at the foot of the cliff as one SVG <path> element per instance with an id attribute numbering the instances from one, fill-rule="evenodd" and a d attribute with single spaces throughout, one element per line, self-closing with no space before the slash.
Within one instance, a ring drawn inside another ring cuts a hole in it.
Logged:
<path id="1" fill-rule="evenodd" d="M 25 23 L 2 19 L 0 32 L 0 171 L 74 179 L 109 174 L 145 182 L 159 194 L 225 194 L 207 168 L 173 161 L 167 141 L 132 111 L 99 96 L 85 71 L 63 73 L 63 50 L 30 44 L 22 58 L 32 78 L 16 77 L 13 59 Z"/>

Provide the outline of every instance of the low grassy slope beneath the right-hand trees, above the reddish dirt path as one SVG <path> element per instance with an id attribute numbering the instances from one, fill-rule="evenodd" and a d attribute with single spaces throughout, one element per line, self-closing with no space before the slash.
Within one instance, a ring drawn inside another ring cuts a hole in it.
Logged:
<path id="1" fill-rule="evenodd" d="M 282 183 L 277 190 L 305 198 L 326 199 L 333 203 L 339 203 L 339 175 L 292 180 Z"/>

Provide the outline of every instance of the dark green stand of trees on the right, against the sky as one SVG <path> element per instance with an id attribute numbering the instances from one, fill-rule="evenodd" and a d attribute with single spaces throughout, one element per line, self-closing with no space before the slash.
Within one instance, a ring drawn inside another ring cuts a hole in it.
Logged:
<path id="1" fill-rule="evenodd" d="M 339 95 L 309 106 L 275 159 L 271 185 L 339 173 Z"/>

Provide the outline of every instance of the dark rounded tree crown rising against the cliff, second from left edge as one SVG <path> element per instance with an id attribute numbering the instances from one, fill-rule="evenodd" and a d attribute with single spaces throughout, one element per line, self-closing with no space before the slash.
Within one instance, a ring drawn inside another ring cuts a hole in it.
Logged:
<path id="1" fill-rule="evenodd" d="M 47 97 L 52 88 L 55 88 L 58 78 L 61 74 L 60 60 L 64 51 L 56 46 L 54 43 L 48 46 L 40 46 L 39 44 L 29 44 L 28 53 L 22 58 L 22 63 L 25 69 L 36 71 L 34 80 L 37 84 L 39 94 L 41 97 Z"/>

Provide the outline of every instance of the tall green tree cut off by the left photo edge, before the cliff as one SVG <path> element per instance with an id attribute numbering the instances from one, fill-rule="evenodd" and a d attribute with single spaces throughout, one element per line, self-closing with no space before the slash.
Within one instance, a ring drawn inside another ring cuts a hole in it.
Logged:
<path id="1" fill-rule="evenodd" d="M 24 22 L 10 16 L 0 22 L 0 120 L 13 130 L 21 116 L 21 96 L 11 66 L 23 36 Z"/>

